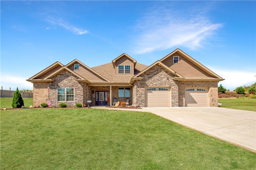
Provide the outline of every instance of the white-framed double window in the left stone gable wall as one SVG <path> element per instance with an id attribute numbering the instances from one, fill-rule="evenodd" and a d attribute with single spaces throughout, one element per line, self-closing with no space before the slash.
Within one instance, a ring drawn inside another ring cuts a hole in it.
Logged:
<path id="1" fill-rule="evenodd" d="M 58 88 L 58 102 L 73 102 L 74 88 Z"/>

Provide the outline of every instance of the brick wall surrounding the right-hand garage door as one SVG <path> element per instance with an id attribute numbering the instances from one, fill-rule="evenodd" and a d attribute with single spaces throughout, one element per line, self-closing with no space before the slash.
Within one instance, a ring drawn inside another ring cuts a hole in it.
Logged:
<path id="1" fill-rule="evenodd" d="M 179 82 L 179 106 L 185 106 L 185 88 L 209 88 L 208 92 L 208 106 L 218 106 L 218 82 L 197 82 L 186 81 Z"/>

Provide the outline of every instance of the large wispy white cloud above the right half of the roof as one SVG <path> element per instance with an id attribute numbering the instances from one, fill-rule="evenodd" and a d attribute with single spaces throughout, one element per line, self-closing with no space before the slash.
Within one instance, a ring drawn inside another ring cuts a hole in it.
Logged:
<path id="1" fill-rule="evenodd" d="M 149 53 L 177 45 L 190 49 L 202 47 L 206 39 L 222 27 L 222 24 L 211 23 L 203 15 L 180 16 L 167 7 L 149 12 L 136 26 L 139 33 L 135 35 L 135 53 Z"/>

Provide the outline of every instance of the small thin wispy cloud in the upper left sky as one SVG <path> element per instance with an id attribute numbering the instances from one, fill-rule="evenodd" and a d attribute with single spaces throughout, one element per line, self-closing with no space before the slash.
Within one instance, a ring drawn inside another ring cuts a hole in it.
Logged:
<path id="1" fill-rule="evenodd" d="M 73 33 L 78 34 L 78 35 L 83 35 L 83 34 L 89 33 L 89 31 L 87 31 L 86 29 L 77 28 L 74 25 L 71 25 L 71 24 L 63 21 L 62 19 L 48 17 L 46 19 L 46 21 L 52 25 L 59 25 L 61 27 L 64 27 L 65 29 L 68 29 L 69 31 L 72 31 Z"/>

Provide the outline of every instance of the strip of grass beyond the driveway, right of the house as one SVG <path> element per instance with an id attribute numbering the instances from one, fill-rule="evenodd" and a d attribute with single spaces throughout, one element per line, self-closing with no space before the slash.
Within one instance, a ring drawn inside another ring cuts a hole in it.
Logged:
<path id="1" fill-rule="evenodd" d="M 239 110 L 248 110 L 256 111 L 256 99 L 248 98 L 227 98 L 227 99 L 218 99 L 219 103 L 222 103 L 221 107 L 229 109 L 239 109 Z"/>

